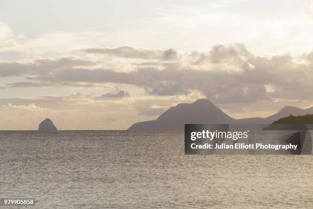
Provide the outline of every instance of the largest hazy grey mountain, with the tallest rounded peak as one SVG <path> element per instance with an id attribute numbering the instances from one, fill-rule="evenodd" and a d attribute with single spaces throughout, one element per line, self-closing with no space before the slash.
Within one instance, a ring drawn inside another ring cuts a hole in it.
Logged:
<path id="1" fill-rule="evenodd" d="M 207 99 L 191 104 L 180 103 L 165 111 L 158 119 L 138 122 L 128 130 L 181 130 L 185 123 L 234 123 L 236 120 Z"/>

